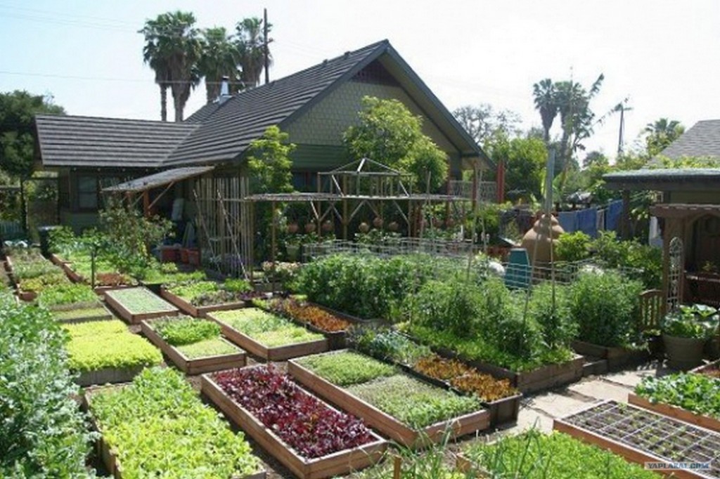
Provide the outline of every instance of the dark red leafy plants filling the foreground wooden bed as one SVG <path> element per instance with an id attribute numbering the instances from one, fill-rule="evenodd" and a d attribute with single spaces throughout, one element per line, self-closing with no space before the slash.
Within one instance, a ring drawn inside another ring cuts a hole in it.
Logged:
<path id="1" fill-rule="evenodd" d="M 302 457 L 323 457 L 374 440 L 362 421 L 330 409 L 271 365 L 222 371 L 212 379 Z"/>

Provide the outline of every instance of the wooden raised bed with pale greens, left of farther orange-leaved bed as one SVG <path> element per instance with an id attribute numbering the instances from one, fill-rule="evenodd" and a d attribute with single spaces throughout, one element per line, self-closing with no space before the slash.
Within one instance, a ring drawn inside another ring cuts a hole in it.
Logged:
<path id="1" fill-rule="evenodd" d="M 328 339 L 292 321 L 257 308 L 213 311 L 209 319 L 236 345 L 268 361 L 312 355 L 329 349 Z"/>

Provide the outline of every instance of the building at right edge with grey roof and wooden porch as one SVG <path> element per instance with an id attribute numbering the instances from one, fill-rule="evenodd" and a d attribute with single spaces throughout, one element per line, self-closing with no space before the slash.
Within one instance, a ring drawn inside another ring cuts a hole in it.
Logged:
<path id="1" fill-rule="evenodd" d="M 720 162 L 720 120 L 696 123 L 660 156 Z M 720 306 L 720 168 L 645 168 L 603 179 L 608 188 L 623 191 L 624 216 L 631 191 L 662 193 L 650 213 L 662 229 L 665 308 L 678 302 Z"/>

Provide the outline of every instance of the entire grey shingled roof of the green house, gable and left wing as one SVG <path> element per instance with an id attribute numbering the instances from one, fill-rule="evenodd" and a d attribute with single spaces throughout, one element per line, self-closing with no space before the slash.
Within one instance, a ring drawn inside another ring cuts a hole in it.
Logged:
<path id="1" fill-rule="evenodd" d="M 480 146 L 387 40 L 240 91 L 222 103 L 207 104 L 181 124 L 83 117 L 53 117 L 58 120 L 52 122 L 50 117 L 38 117 L 42 160 L 47 166 L 122 162 L 155 168 L 237 160 L 268 127 L 287 127 L 374 61 L 395 78 L 426 121 L 450 140 L 462 158 L 490 165 Z M 61 141 L 66 133 L 70 134 L 67 141 Z M 87 151 L 76 156 L 76 145 L 85 145 Z M 102 155 L 107 156 L 101 159 Z"/>

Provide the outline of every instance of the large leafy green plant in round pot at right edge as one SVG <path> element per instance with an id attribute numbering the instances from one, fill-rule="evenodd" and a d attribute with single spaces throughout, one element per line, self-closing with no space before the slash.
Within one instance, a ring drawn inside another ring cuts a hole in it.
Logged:
<path id="1" fill-rule="evenodd" d="M 720 315 L 704 304 L 680 305 L 662 318 L 667 365 L 687 370 L 703 360 L 703 347 L 717 334 Z"/>

